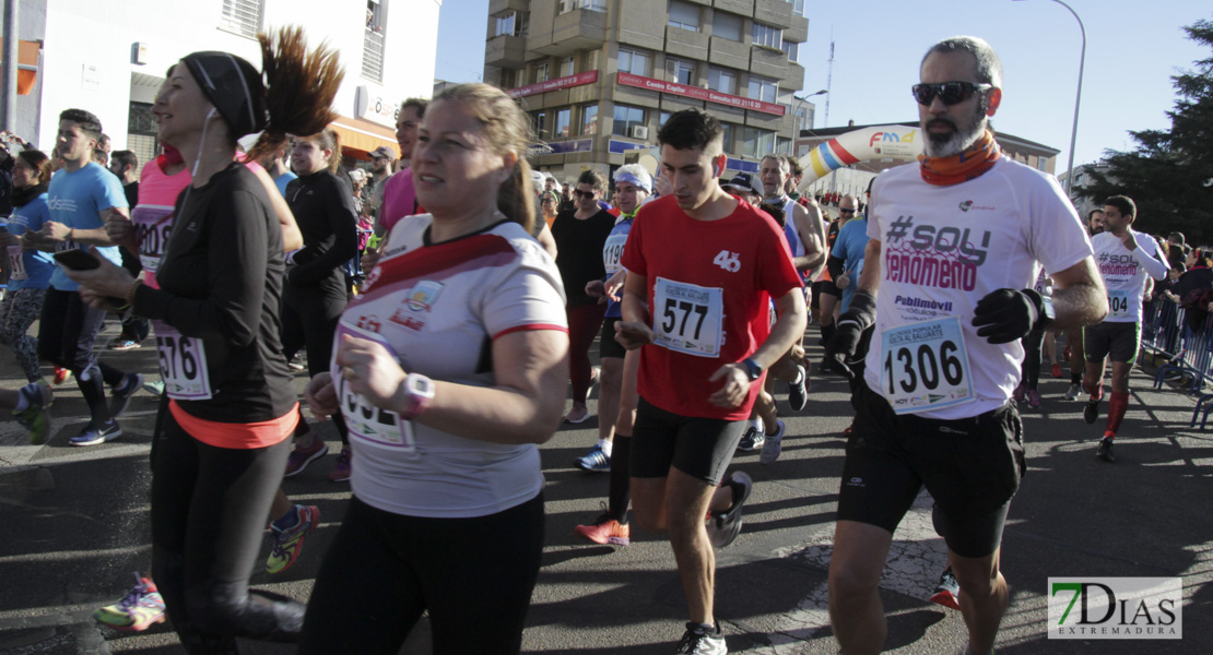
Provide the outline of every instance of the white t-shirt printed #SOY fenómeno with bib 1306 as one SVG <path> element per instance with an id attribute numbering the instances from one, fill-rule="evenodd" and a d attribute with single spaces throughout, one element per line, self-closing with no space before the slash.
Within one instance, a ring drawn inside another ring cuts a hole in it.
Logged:
<path id="1" fill-rule="evenodd" d="M 950 186 L 923 182 L 917 163 L 885 171 L 867 236 L 882 251 L 865 380 L 894 410 L 934 419 L 996 409 L 1019 381 L 1023 346 L 976 335 L 978 300 L 1092 254 L 1057 180 L 1008 157 Z"/>

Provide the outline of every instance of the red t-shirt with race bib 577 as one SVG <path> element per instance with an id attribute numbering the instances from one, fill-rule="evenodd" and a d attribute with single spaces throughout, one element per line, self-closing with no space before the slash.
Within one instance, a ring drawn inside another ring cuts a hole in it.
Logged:
<path id="1" fill-rule="evenodd" d="M 770 333 L 770 299 L 802 286 L 779 224 L 741 201 L 695 220 L 666 196 L 637 212 L 621 264 L 647 276 L 657 339 L 640 352 L 640 396 L 680 416 L 748 418 L 762 385 L 725 409 L 708 401 L 723 386 L 708 378 L 751 356 Z"/>

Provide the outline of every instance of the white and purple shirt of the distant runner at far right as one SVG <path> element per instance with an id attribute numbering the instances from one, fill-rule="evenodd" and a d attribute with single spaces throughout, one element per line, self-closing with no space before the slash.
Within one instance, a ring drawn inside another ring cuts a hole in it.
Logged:
<path id="1" fill-rule="evenodd" d="M 1100 232 L 1090 239 L 1095 249 L 1095 266 L 1107 288 L 1107 318 L 1105 323 L 1140 323 L 1145 280 L 1162 280 L 1171 265 L 1158 257 L 1158 242 L 1129 228 L 1138 247 L 1129 252 L 1121 237 Z"/>

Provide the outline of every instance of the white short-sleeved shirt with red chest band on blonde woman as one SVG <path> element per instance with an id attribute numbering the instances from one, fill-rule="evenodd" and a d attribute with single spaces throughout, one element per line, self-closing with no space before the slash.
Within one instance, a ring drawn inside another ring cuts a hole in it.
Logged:
<path id="1" fill-rule="evenodd" d="M 363 292 L 341 315 L 342 334 L 371 339 L 408 373 L 492 386 L 492 340 L 518 331 L 568 331 L 560 274 L 516 223 L 428 243 L 429 214 L 400 219 Z M 334 352 L 337 347 L 334 346 Z M 371 408 L 332 367 L 354 450 L 361 501 L 420 517 L 488 516 L 543 487 L 535 444 L 460 437 Z"/>

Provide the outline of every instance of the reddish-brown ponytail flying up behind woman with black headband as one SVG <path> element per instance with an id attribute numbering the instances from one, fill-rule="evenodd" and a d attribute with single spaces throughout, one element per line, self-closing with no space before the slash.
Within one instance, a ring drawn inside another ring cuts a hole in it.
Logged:
<path id="1" fill-rule="evenodd" d="M 266 130 L 249 150 L 247 159 L 257 160 L 286 143 L 287 134 L 317 134 L 337 119 L 332 99 L 346 76 L 337 52 L 321 42 L 307 48 L 303 29 L 286 27 L 277 39 L 257 34 L 261 42 L 261 68 L 266 76 Z M 340 148 L 340 138 L 337 139 Z M 340 166 L 340 150 L 334 161 Z M 334 163 L 330 161 L 330 167 Z"/>

